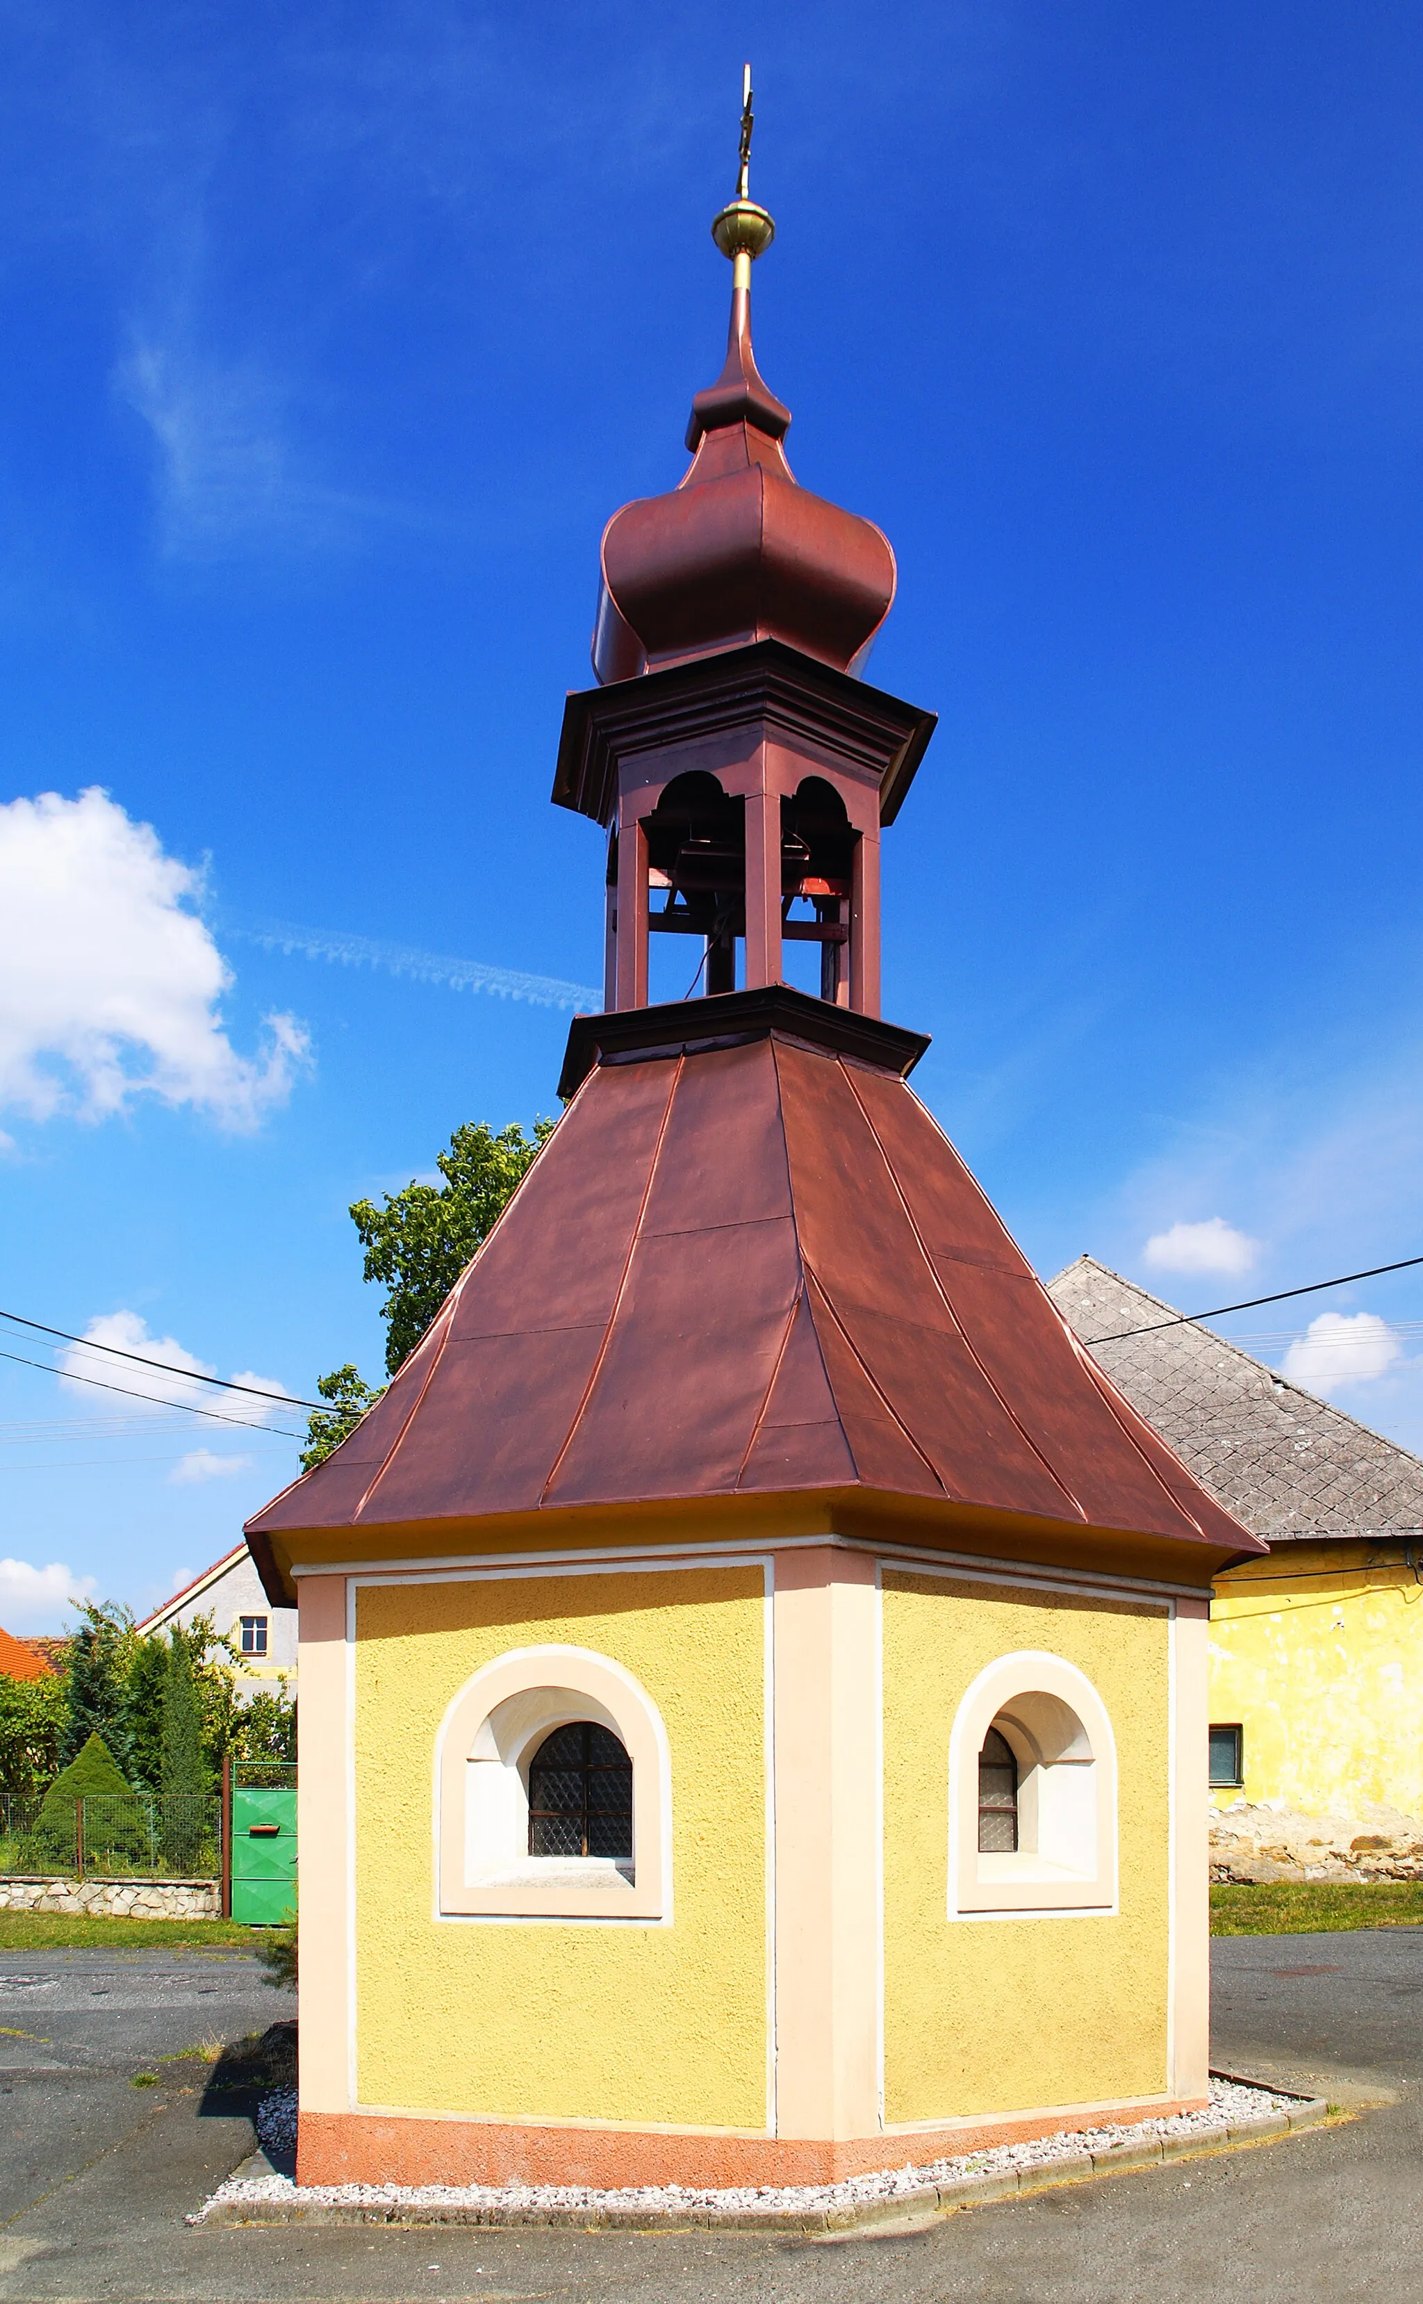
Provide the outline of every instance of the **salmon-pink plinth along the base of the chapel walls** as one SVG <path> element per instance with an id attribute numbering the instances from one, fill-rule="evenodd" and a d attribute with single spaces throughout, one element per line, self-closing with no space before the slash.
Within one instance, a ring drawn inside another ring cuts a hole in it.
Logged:
<path id="1" fill-rule="evenodd" d="M 299 2184 L 838 2184 L 875 2168 L 923 2166 L 1071 2129 L 1197 2113 L 1207 2097 L 1009 2113 L 949 2129 L 889 2129 L 820 2140 L 698 2136 L 668 2129 L 573 2129 L 534 2122 L 302 2113 Z"/>

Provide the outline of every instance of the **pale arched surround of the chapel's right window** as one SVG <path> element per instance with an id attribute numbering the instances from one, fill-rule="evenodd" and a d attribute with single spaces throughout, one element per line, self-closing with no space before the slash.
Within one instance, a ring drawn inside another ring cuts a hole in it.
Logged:
<path id="1" fill-rule="evenodd" d="M 979 1850 L 979 1753 L 1018 1760 L 1018 1850 Z M 1087 1673 L 1022 1647 L 965 1691 L 949 1737 L 949 1919 L 1117 1910 L 1117 1740 Z"/>

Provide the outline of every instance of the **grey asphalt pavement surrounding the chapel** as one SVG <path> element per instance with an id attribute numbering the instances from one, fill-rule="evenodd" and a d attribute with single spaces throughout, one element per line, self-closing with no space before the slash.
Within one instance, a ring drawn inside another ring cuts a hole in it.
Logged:
<path id="1" fill-rule="evenodd" d="M 1423 2304 L 1423 1931 L 1213 1951 L 1216 2062 L 1319 2090 L 1345 2117 L 926 2230 L 820 2239 L 187 2226 L 251 2124 L 249 2099 L 214 2085 L 233 2060 L 182 2051 L 290 2004 L 239 1954 L 5 1956 L 0 2299 Z M 145 2071 L 159 2085 L 134 2087 Z"/>

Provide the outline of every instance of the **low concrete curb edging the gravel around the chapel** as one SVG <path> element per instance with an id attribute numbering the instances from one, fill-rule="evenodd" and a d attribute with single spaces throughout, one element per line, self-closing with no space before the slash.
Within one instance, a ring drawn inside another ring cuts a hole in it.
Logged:
<path id="1" fill-rule="evenodd" d="M 1239 2074 L 1216 2074 L 1236 2081 Z M 1260 2087 L 1260 2081 L 1246 2081 Z M 1271 2094 L 1285 2094 L 1273 2087 Z M 1287 2110 L 1253 2113 L 1234 2120 L 1218 2136 L 1172 2136 L 1165 2143 L 1112 2145 L 1105 2152 L 1064 2152 L 1059 2159 L 1027 2168 L 983 2175 L 960 2175 L 944 2184 L 919 2184 L 914 2191 L 889 2193 L 882 2200 L 859 2200 L 852 2207 L 334 2207 L 304 2200 L 223 2200 L 203 2223 L 401 2223 L 401 2226 L 564 2226 L 578 2233 L 852 2233 L 877 2223 L 926 2223 L 960 2207 L 983 2207 L 988 2200 L 1013 2200 L 1020 2193 L 1052 2191 L 1061 2184 L 1085 2184 L 1091 2177 L 1156 2168 L 1163 2161 L 1200 2159 L 1232 2152 L 1239 2145 L 1269 2143 L 1296 2129 L 1315 2129 L 1329 2117 L 1324 2097 L 1294 2097 Z M 253 2152 L 233 2175 L 272 2175 L 265 2152 Z"/>

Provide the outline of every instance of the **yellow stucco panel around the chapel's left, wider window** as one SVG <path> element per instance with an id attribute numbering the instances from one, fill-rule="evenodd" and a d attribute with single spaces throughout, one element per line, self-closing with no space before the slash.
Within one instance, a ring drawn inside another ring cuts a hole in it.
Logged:
<path id="1" fill-rule="evenodd" d="M 764 2129 L 760 1569 L 357 1592 L 357 2094 L 403 2110 Z M 435 1733 L 511 1647 L 612 1657 L 672 1753 L 675 1924 L 431 1919 Z"/>

